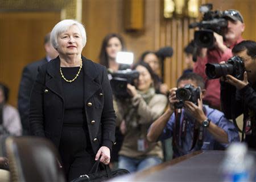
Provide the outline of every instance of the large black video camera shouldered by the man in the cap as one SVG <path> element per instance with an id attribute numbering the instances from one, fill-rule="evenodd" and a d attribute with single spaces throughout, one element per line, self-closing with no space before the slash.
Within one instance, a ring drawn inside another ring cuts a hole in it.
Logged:
<path id="1" fill-rule="evenodd" d="M 228 27 L 228 21 L 222 18 L 222 11 L 212 10 L 212 4 L 202 5 L 200 12 L 204 13 L 201 22 L 189 24 L 189 28 L 199 27 L 199 31 L 194 33 L 195 44 L 203 48 L 212 48 L 214 45 L 214 35 L 216 32 L 224 36 L 224 28 Z"/>

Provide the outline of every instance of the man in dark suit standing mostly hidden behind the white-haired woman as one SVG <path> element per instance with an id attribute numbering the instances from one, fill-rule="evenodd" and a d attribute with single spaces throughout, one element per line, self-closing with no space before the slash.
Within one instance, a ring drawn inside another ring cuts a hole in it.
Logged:
<path id="1" fill-rule="evenodd" d="M 58 56 L 58 52 L 51 45 L 50 35 L 51 33 L 47 33 L 47 35 L 44 37 L 44 49 L 46 50 L 46 57 L 42 60 L 28 64 L 24 67 L 22 72 L 18 94 L 18 109 L 22 121 L 23 135 L 30 135 L 28 121 L 28 114 L 30 109 L 30 92 L 36 79 L 36 75 L 38 74 L 38 67 L 46 64 L 48 61 Z"/>

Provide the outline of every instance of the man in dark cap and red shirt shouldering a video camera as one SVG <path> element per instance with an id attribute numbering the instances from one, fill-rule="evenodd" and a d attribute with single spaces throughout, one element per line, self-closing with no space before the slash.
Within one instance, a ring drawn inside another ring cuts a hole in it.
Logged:
<path id="1" fill-rule="evenodd" d="M 245 24 L 239 11 L 226 10 L 223 12 L 222 18 L 228 20 L 228 27 L 224 31 L 224 37 L 214 32 L 214 47 L 201 49 L 201 54 L 197 56 L 197 62 L 193 69 L 195 73 L 204 78 L 205 89 L 207 90 L 204 98 L 205 103 L 217 109 L 220 109 L 220 82 L 218 79 L 207 79 L 205 64 L 220 63 L 232 57 L 232 48 L 243 40 L 242 32 L 245 30 Z"/>

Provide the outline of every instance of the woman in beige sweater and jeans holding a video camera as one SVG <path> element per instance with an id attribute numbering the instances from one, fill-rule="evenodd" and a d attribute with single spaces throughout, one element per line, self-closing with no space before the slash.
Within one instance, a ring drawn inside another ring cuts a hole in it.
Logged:
<path id="1" fill-rule="evenodd" d="M 117 100 L 118 114 L 123 116 L 121 131 L 125 133 L 123 145 L 119 151 L 118 167 L 130 172 L 144 170 L 162 162 L 162 146 L 148 143 L 147 129 L 166 108 L 167 98 L 155 94 L 155 74 L 151 67 L 141 62 L 134 66 L 139 72 L 135 86 L 127 84 L 130 98 Z"/>

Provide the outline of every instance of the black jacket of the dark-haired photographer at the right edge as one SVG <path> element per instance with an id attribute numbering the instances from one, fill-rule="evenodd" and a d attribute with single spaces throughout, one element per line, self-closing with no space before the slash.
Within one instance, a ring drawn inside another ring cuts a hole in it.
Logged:
<path id="1" fill-rule="evenodd" d="M 253 133 L 246 135 L 245 141 L 251 149 L 256 150 L 256 84 L 247 84 L 237 90 L 236 87 L 221 82 L 221 107 L 228 119 L 237 118 L 241 114 L 244 121 L 250 118 Z"/>

